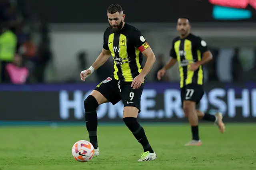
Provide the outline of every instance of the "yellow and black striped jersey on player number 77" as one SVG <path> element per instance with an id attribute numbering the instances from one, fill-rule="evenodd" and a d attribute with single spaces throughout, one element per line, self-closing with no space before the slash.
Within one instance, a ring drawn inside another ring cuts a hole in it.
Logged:
<path id="1" fill-rule="evenodd" d="M 178 60 L 180 88 L 191 83 L 203 84 L 204 72 L 202 65 L 196 71 L 188 70 L 188 65 L 200 61 L 206 51 L 208 51 L 206 42 L 193 34 L 189 34 L 184 39 L 177 37 L 172 40 L 170 56 Z"/>

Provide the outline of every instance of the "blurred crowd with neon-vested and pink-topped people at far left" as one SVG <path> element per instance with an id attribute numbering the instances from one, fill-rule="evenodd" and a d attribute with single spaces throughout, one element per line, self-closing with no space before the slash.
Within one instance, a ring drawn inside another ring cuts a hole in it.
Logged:
<path id="1" fill-rule="evenodd" d="M 0 83 L 44 82 L 52 58 L 47 25 L 31 20 L 21 2 L 0 0 Z"/>

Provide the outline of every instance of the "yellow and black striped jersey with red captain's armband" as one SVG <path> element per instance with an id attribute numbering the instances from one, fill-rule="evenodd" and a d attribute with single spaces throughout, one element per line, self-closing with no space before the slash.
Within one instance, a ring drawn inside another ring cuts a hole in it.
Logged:
<path id="1" fill-rule="evenodd" d="M 142 51 L 148 42 L 141 32 L 129 24 L 119 32 L 109 27 L 104 32 L 103 48 L 111 51 L 114 60 L 114 78 L 131 82 L 142 71 Z"/>

